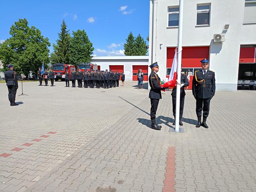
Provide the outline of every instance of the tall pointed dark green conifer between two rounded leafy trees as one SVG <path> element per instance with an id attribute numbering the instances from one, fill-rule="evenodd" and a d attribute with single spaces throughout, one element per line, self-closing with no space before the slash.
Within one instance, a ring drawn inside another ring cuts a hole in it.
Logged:
<path id="1" fill-rule="evenodd" d="M 54 63 L 69 63 L 70 62 L 70 40 L 71 36 L 64 20 L 61 24 L 61 32 L 58 33 L 59 39 L 57 44 L 53 44 L 54 51 L 51 53 L 51 62 Z"/>

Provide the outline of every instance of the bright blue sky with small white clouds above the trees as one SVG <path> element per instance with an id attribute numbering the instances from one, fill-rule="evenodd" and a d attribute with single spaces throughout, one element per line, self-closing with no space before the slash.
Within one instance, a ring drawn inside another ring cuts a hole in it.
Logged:
<path id="1" fill-rule="evenodd" d="M 135 36 L 140 33 L 146 40 L 149 3 L 149 0 L 2 1 L 0 42 L 10 37 L 9 30 L 15 21 L 26 18 L 52 45 L 64 19 L 71 33 L 77 29 L 87 32 L 95 55 L 121 56 L 130 31 Z"/>

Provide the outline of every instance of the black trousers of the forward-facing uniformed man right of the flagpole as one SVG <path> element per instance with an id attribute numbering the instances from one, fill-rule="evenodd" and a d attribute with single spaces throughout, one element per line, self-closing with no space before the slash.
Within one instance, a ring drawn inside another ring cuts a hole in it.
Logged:
<path id="1" fill-rule="evenodd" d="M 211 101 L 211 98 L 202 99 L 197 97 L 195 111 L 197 113 L 198 120 L 201 119 L 202 110 L 203 110 L 203 118 L 206 120 L 206 118 L 208 117 L 209 111 L 210 111 L 210 101 Z"/>

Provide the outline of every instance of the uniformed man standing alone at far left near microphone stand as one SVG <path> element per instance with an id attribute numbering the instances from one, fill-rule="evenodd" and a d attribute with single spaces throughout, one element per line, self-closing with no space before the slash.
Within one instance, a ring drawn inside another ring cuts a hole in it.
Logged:
<path id="1" fill-rule="evenodd" d="M 5 72 L 5 82 L 8 88 L 8 99 L 10 101 L 10 106 L 17 106 L 19 104 L 15 103 L 15 97 L 17 93 L 18 77 L 16 72 L 13 70 L 13 65 L 8 65 L 8 71 Z"/>

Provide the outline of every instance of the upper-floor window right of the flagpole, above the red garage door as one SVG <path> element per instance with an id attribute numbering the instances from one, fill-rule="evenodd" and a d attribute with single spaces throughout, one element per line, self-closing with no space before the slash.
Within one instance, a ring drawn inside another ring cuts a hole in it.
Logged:
<path id="1" fill-rule="evenodd" d="M 210 5 L 197 5 L 197 25 L 210 25 Z"/>

